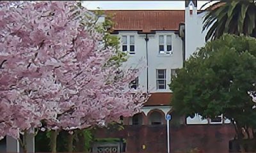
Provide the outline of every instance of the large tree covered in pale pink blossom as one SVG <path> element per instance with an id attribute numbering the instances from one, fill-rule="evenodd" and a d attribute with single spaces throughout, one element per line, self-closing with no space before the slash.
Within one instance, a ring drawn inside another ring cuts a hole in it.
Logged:
<path id="1" fill-rule="evenodd" d="M 0 3 L 0 136 L 29 129 L 84 129 L 137 113 L 148 95 L 138 76 L 109 63 L 102 34 L 74 2 Z M 138 69 L 138 68 L 137 68 Z M 139 68 L 140 69 L 140 68 Z M 54 150 L 53 150 L 54 151 Z"/>

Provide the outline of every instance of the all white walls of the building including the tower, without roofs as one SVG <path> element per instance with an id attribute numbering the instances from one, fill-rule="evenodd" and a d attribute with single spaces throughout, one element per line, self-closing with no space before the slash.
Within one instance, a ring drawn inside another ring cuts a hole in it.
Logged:
<path id="1" fill-rule="evenodd" d="M 172 69 L 182 68 L 184 62 L 183 58 L 187 60 L 198 48 L 204 47 L 206 31 L 202 31 L 202 27 L 204 25 L 203 20 L 205 12 L 198 13 L 193 3 L 190 3 L 189 6 L 186 7 L 185 10 L 186 32 L 184 36 L 184 48 L 182 38 L 180 38 L 179 34 L 175 34 L 175 31 L 156 31 L 156 33 L 150 34 L 140 34 L 138 31 L 118 31 L 118 34 L 115 34 L 120 37 L 121 40 L 120 50 L 123 49 L 122 45 L 127 45 L 124 50 L 130 57 L 128 61 L 125 62 L 125 66 L 136 68 L 141 59 L 145 61 L 145 65 L 148 63 L 148 69 L 143 69 L 138 78 L 138 84 L 140 87 L 143 87 L 145 92 L 172 92 L 168 86 L 171 81 Z M 123 36 L 125 36 L 125 42 L 122 41 Z M 161 43 L 159 42 L 159 36 L 163 36 L 164 38 Z M 168 47 L 166 46 L 168 45 L 167 36 L 172 37 L 172 50 L 168 53 L 166 52 L 168 51 Z M 130 40 L 130 38 L 132 38 L 132 40 Z M 146 41 L 145 38 L 148 38 L 148 41 Z M 131 49 L 133 47 L 130 45 L 134 45 L 134 49 Z M 159 52 L 159 45 L 164 45 L 164 52 Z M 183 57 L 184 54 L 185 57 Z M 165 89 L 157 89 L 157 69 L 166 69 Z M 161 99 L 159 99 L 159 101 L 161 101 Z M 159 106 L 154 107 L 158 108 Z M 148 109 L 152 110 L 153 108 L 144 106 L 142 112 L 148 112 Z M 172 108 L 166 106 L 166 109 L 169 111 Z M 163 109 L 160 108 L 160 110 Z M 165 110 L 164 113 L 166 113 L 167 110 Z M 219 118 L 221 121 L 216 122 L 209 119 L 202 119 L 200 115 L 195 115 L 193 118 L 187 117 L 186 124 L 230 123 L 230 120 L 224 119 L 222 115 Z"/>

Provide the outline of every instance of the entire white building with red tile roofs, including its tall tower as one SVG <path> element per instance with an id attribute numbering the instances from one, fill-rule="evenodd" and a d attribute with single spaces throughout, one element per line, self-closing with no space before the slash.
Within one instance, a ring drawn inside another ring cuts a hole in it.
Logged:
<path id="1" fill-rule="evenodd" d="M 175 75 L 175 69 L 182 68 L 184 61 L 205 45 L 206 31 L 202 31 L 202 27 L 206 12 L 198 11 L 196 3 L 196 0 L 186 0 L 185 10 L 106 11 L 106 14 L 113 15 L 113 34 L 120 37 L 121 50 L 130 55 L 125 64 L 136 68 L 141 59 L 147 63 L 147 68 L 132 85 L 139 85 L 152 94 L 142 108 L 141 117 L 146 121 L 141 121 L 141 124 L 152 124 L 150 115 L 156 112 L 158 114 L 154 115 L 161 120 L 159 124 L 165 123 L 164 116 L 172 112 L 172 91 L 168 84 Z M 216 121 L 203 120 L 200 115 L 186 119 L 187 124 L 225 122 L 230 121 L 223 119 L 222 115 Z M 127 124 L 132 124 L 132 118 Z"/>

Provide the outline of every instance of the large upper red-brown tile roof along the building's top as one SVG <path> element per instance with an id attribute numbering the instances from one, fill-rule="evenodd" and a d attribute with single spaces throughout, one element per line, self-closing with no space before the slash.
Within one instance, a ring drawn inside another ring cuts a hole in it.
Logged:
<path id="1" fill-rule="evenodd" d="M 152 31 L 177 31 L 179 23 L 184 22 L 184 10 L 108 10 L 113 15 L 113 30 L 134 30 L 150 33 Z"/>

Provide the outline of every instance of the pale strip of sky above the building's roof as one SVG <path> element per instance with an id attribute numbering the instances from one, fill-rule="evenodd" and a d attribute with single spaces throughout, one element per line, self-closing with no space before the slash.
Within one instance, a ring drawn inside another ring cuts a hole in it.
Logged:
<path id="1" fill-rule="evenodd" d="M 198 1 L 198 10 L 205 3 Z M 83 1 L 83 6 L 88 10 L 184 10 L 185 1 Z"/>

